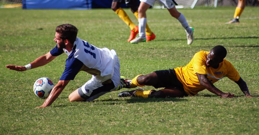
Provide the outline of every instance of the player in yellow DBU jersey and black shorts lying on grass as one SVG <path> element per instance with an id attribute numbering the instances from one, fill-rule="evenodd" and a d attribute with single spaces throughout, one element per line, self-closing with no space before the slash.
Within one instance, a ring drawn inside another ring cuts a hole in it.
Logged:
<path id="1" fill-rule="evenodd" d="M 252 97 L 245 81 L 239 76 L 237 70 L 229 61 L 224 59 L 226 54 L 226 49 L 221 45 L 217 45 L 210 52 L 197 52 L 184 67 L 159 70 L 147 75 L 138 75 L 132 80 L 125 80 L 124 88 L 153 86 L 164 89 L 158 91 L 144 91 L 143 89 L 123 91 L 119 93 L 119 97 L 174 98 L 194 96 L 198 92 L 207 89 L 221 98 L 232 98 L 234 94 L 224 93 L 213 85 L 213 83 L 224 77 L 228 77 L 237 83 L 246 97 Z"/>

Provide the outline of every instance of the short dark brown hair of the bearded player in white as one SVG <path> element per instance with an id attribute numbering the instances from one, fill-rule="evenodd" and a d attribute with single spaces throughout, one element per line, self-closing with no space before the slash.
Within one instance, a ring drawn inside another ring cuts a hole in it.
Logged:
<path id="1" fill-rule="evenodd" d="M 71 24 L 62 24 L 56 27 L 56 32 L 60 34 L 62 40 L 68 39 L 74 43 L 77 38 L 78 29 Z"/>

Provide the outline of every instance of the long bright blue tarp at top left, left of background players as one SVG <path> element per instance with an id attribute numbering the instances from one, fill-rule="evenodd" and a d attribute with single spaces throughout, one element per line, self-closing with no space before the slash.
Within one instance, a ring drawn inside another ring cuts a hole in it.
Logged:
<path id="1" fill-rule="evenodd" d="M 23 9 L 91 9 L 95 0 L 23 0 Z"/>

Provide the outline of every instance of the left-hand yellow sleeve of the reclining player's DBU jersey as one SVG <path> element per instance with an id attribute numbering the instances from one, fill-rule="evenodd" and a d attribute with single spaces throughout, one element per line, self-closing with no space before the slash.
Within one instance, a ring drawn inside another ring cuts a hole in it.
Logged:
<path id="1" fill-rule="evenodd" d="M 199 51 L 195 53 L 191 63 L 193 64 L 193 74 L 207 74 L 206 70 L 206 51 Z"/>

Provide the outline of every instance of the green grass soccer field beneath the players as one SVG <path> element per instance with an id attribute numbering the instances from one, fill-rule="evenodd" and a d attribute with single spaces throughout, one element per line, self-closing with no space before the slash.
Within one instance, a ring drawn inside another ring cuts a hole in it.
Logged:
<path id="1" fill-rule="evenodd" d="M 147 11 L 156 39 L 134 45 L 127 43 L 129 28 L 111 9 L 0 9 L 0 134 L 259 134 L 259 8 L 246 7 L 241 23 L 230 25 L 224 23 L 235 7 L 179 11 L 195 29 L 190 46 L 181 24 L 165 9 Z M 115 49 L 126 78 L 184 66 L 195 52 L 223 45 L 226 59 L 255 97 L 245 98 L 235 82 L 224 78 L 214 85 L 234 98 L 222 99 L 207 90 L 185 98 L 118 98 L 122 89 L 93 102 L 69 102 L 68 95 L 91 78 L 80 72 L 50 107 L 34 109 L 44 100 L 33 93 L 33 83 L 41 77 L 57 83 L 67 56 L 26 72 L 5 65 L 26 65 L 47 53 L 56 45 L 56 26 L 64 23 L 75 25 L 81 39 Z"/>

